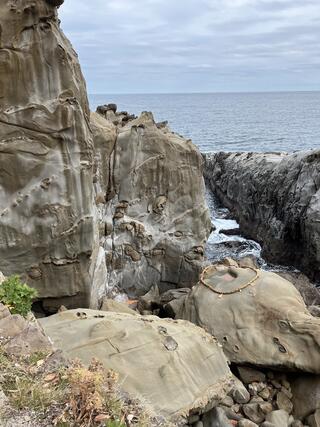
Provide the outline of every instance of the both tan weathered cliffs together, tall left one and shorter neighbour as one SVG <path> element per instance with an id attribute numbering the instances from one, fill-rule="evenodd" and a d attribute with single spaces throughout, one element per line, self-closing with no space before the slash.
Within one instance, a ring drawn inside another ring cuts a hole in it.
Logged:
<path id="1" fill-rule="evenodd" d="M 90 118 L 62 3 L 0 2 L 0 269 L 50 311 L 191 286 L 211 227 L 202 158 L 150 114 Z"/>

